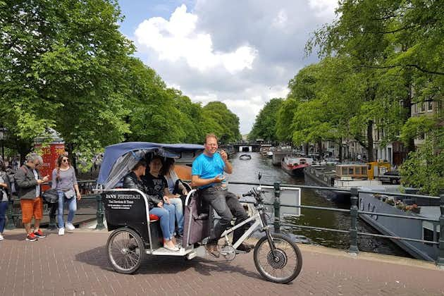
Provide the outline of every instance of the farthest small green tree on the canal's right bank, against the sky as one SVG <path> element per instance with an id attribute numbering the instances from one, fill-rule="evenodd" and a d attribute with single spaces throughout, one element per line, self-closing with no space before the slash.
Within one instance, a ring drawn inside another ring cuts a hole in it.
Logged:
<path id="1" fill-rule="evenodd" d="M 249 132 L 248 140 L 254 141 L 259 138 L 271 142 L 278 140 L 276 136 L 276 121 L 282 102 L 283 99 L 271 99 L 265 104 L 264 108 L 256 116 L 256 121 L 254 121 L 252 131 Z"/>

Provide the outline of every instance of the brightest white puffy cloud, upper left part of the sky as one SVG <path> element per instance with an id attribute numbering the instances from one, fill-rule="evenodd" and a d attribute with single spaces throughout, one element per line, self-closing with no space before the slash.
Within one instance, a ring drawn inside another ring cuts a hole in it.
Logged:
<path id="1" fill-rule="evenodd" d="M 243 45 L 234 51 L 215 51 L 211 35 L 197 32 L 198 17 L 187 13 L 182 5 L 171 14 L 170 20 L 149 18 L 136 29 L 137 43 L 142 47 L 154 50 L 161 61 L 176 62 L 185 59 L 188 66 L 200 71 L 223 67 L 235 74 L 244 69 L 251 69 L 258 52 Z"/>

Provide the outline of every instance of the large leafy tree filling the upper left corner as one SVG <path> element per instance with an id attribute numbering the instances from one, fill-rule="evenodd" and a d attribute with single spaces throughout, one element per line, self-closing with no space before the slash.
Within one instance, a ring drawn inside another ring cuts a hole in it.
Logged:
<path id="1" fill-rule="evenodd" d="M 90 156 L 123 140 L 132 44 L 116 1 L 1 1 L 0 111 L 20 140 L 54 128 Z M 28 148 L 29 149 L 29 148 Z"/>

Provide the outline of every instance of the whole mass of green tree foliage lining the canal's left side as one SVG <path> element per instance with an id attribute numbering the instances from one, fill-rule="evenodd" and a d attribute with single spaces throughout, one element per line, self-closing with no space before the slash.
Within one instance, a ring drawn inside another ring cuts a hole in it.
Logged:
<path id="1" fill-rule="evenodd" d="M 116 0 L 0 1 L 0 125 L 26 154 L 54 128 L 87 168 L 106 145 L 240 139 L 224 104 L 202 108 L 132 57 Z"/>

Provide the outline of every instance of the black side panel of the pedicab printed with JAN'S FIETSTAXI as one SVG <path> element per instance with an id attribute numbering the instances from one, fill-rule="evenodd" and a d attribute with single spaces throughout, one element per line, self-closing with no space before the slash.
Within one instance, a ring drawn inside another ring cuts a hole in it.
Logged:
<path id="1" fill-rule="evenodd" d="M 102 192 L 101 197 L 104 202 L 106 225 L 109 231 L 128 227 L 140 235 L 146 248 L 157 249 L 164 245 L 159 217 L 149 214 L 147 197 L 143 192 L 127 188 L 113 189 Z M 150 233 L 152 246 L 150 246 L 149 240 Z"/>

